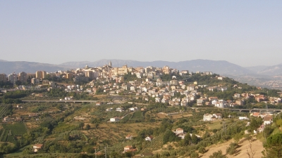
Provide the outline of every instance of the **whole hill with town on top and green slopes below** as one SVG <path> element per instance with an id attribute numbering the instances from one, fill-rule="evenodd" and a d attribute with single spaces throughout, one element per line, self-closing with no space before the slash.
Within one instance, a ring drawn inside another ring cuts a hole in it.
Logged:
<path id="1" fill-rule="evenodd" d="M 7 157 L 199 157 L 274 131 L 282 109 L 281 91 L 168 66 L 0 74 L 0 86 Z"/>

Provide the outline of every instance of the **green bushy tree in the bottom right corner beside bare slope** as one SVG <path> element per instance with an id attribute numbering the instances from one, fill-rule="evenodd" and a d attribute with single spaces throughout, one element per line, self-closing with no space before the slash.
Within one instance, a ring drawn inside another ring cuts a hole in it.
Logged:
<path id="1" fill-rule="evenodd" d="M 282 157 L 282 133 L 276 133 L 267 138 L 264 144 L 265 150 L 262 152 L 264 157 L 278 158 Z"/>

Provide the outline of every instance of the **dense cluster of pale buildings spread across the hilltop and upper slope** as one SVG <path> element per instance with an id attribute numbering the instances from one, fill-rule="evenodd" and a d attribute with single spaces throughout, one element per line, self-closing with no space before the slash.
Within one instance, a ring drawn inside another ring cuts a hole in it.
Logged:
<path id="1" fill-rule="evenodd" d="M 125 74 L 135 75 L 137 79 L 134 81 L 125 81 Z M 169 81 L 163 81 L 161 76 L 169 74 Z M 257 102 L 268 101 L 269 103 L 281 103 L 281 98 L 268 98 L 260 94 L 252 93 L 235 93 L 233 100 L 223 100 L 222 98 L 216 98 L 214 96 L 207 96 L 201 93 L 198 88 L 207 88 L 209 91 L 226 91 L 227 86 L 216 85 L 200 85 L 195 81 L 193 84 L 186 84 L 185 78 L 192 75 L 192 72 L 188 70 L 178 71 L 168 66 L 164 67 L 112 67 L 111 62 L 109 65 L 102 67 L 89 67 L 86 65 L 84 68 L 78 68 L 76 70 L 68 70 L 65 72 L 47 73 L 45 71 L 37 71 L 35 74 L 27 74 L 20 72 L 18 74 L 0 74 L 0 81 L 11 81 L 14 83 L 16 80 L 25 82 L 27 78 L 31 79 L 32 84 L 51 85 L 55 87 L 55 83 L 46 79 L 49 77 L 62 77 L 66 79 L 73 79 L 73 81 L 86 81 L 87 88 L 79 85 L 66 85 L 65 91 L 88 93 L 109 93 L 111 95 L 120 93 L 136 94 L 135 99 L 142 100 L 154 100 L 156 103 L 165 103 L 171 106 L 185 106 L 189 103 L 197 103 L 197 105 L 212 105 L 214 107 L 233 107 L 234 105 L 244 105 L 244 100 L 248 98 L 254 98 Z M 212 72 L 195 72 L 195 74 L 211 75 Z M 183 80 L 177 79 L 178 75 Z M 225 77 L 214 77 L 219 80 L 223 80 Z M 99 85 L 97 86 L 97 81 Z M 234 85 L 233 88 L 242 88 Z M 23 86 L 23 89 L 28 89 L 28 86 Z M 176 95 L 176 94 L 180 94 Z M 281 95 L 282 96 L 282 95 Z M 152 99 L 153 98 L 153 99 Z"/>

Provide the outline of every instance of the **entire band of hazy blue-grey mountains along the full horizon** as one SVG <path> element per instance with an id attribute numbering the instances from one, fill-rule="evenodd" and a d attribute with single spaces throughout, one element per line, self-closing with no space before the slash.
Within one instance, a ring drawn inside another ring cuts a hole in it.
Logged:
<path id="1" fill-rule="evenodd" d="M 259 76 L 274 76 L 282 75 L 282 65 L 274 66 L 255 66 L 255 67 L 241 67 L 240 65 L 235 65 L 231 62 L 225 60 L 186 60 L 180 62 L 168 62 L 168 61 L 152 61 L 152 62 L 141 62 L 137 60 L 97 60 L 91 61 L 80 61 L 80 62 L 64 62 L 60 65 L 53 65 L 48 63 L 39 62 L 26 62 L 26 61 L 6 61 L 0 60 L 0 73 L 11 74 L 13 72 L 30 72 L 35 73 L 38 70 L 45 70 L 47 72 L 56 72 L 63 70 L 76 69 L 78 67 L 82 68 L 85 65 L 90 67 L 99 67 L 103 65 L 108 65 L 111 61 L 113 67 L 121 67 L 123 65 L 128 65 L 129 67 L 164 67 L 168 65 L 171 68 L 176 68 L 178 70 L 189 70 L 190 72 L 213 72 L 222 75 L 242 75 L 242 74 L 252 74 Z"/>

